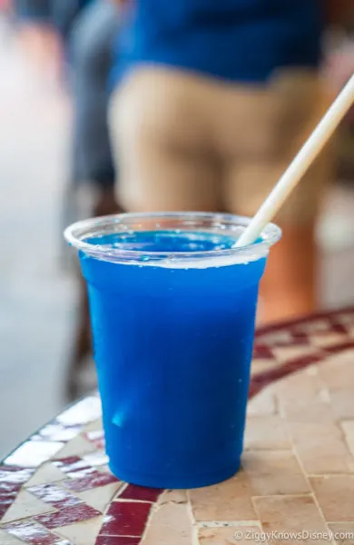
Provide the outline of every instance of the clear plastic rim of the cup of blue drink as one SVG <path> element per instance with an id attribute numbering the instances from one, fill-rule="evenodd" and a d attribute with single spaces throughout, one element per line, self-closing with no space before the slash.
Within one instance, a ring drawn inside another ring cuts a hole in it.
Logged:
<path id="1" fill-rule="evenodd" d="M 126 261 L 142 261 L 142 257 L 152 260 L 172 259 L 176 260 L 198 260 L 205 257 L 218 258 L 224 256 L 241 256 L 242 254 L 262 254 L 268 253 L 270 247 L 277 243 L 281 237 L 281 230 L 275 223 L 268 223 L 261 233 L 261 240 L 255 243 L 241 247 L 231 247 L 226 250 L 211 250 L 203 252 L 145 252 L 143 250 L 129 250 L 125 248 L 116 248 L 101 244 L 92 244 L 87 242 L 87 239 L 97 236 L 100 227 L 109 226 L 112 224 L 112 233 L 121 233 L 118 227 L 124 225 L 124 222 L 129 220 L 159 220 L 171 218 L 172 220 L 192 221 L 206 220 L 213 221 L 215 227 L 219 226 L 222 230 L 222 225 L 231 225 L 236 227 L 246 227 L 251 218 L 247 216 L 239 216 L 232 213 L 211 213 L 211 212 L 151 212 L 151 213 L 118 213 L 105 216 L 99 216 L 75 222 L 69 225 L 64 230 L 64 239 L 67 243 L 73 246 L 81 253 L 88 254 L 96 259 L 119 262 Z M 125 231 L 129 229 L 128 225 Z M 202 230 L 202 228 L 199 228 Z M 207 230 L 207 227 L 205 227 Z M 123 230 L 124 231 L 124 230 Z M 102 233 L 102 231 L 101 231 Z M 108 232 L 109 233 L 109 232 Z"/>

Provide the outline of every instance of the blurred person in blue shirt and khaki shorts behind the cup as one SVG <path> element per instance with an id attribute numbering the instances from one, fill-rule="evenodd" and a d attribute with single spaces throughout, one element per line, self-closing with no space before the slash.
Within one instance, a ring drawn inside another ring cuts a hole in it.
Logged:
<path id="1" fill-rule="evenodd" d="M 253 215 L 332 99 L 321 39 L 351 0 L 116 2 L 110 124 L 123 207 Z M 315 308 L 314 231 L 331 172 L 328 149 L 276 218 L 267 319 Z"/>

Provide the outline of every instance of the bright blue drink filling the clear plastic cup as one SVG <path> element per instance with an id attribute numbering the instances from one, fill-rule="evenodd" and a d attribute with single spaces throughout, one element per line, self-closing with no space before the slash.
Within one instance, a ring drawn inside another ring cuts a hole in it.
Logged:
<path id="1" fill-rule="evenodd" d="M 203 252 L 235 240 L 147 232 L 90 239 L 145 252 Z M 209 268 L 81 255 L 112 471 L 158 488 L 223 481 L 240 466 L 258 284 L 265 259 Z"/>

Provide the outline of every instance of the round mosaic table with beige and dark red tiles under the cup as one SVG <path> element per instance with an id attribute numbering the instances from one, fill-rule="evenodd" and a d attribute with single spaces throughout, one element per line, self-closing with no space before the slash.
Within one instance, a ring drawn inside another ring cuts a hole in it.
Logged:
<path id="1" fill-rule="evenodd" d="M 1 545 L 354 543 L 354 309 L 258 332 L 250 397 L 242 470 L 199 490 L 117 481 L 79 401 L 0 465 Z"/>

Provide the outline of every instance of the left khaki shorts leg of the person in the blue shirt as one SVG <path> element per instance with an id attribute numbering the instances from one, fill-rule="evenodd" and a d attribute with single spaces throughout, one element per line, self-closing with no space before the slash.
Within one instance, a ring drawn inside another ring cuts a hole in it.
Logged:
<path id="1" fill-rule="evenodd" d="M 113 95 L 110 124 L 120 167 L 118 197 L 129 212 L 220 208 L 218 166 L 209 154 L 199 79 L 140 69 Z"/>

